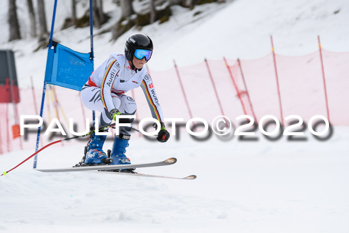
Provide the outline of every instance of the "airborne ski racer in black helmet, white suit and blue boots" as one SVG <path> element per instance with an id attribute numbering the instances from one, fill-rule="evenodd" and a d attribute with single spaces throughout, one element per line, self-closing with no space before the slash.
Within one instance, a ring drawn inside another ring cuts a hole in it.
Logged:
<path id="1" fill-rule="evenodd" d="M 147 73 L 144 64 L 149 61 L 153 53 L 153 42 L 148 35 L 135 33 L 129 36 L 125 45 L 125 54 L 113 53 L 99 66 L 86 84 L 82 87 L 80 97 L 83 105 L 101 112 L 99 128 L 111 124 L 117 115 L 134 115 L 136 102 L 124 93 L 137 87 L 142 87 L 147 98 L 153 118 L 161 124 L 158 141 L 166 142 L 170 134 L 165 128 L 164 116 L 159 104 L 153 81 Z M 133 119 L 124 122 L 133 123 Z M 121 120 L 120 120 L 121 122 Z M 101 132 L 107 132 L 103 130 Z M 91 135 L 85 147 L 85 164 L 131 164 L 125 155 L 129 146 L 131 127 L 120 127 L 119 135 L 115 136 L 110 159 L 102 150 L 105 135 Z"/>

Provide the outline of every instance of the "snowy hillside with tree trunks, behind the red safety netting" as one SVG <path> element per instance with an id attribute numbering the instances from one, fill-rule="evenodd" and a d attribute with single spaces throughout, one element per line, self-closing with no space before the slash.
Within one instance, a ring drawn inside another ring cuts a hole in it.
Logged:
<path id="1" fill-rule="evenodd" d="M 5 23 L 7 1 L 1 1 L 0 19 L 3 36 L 0 49 L 16 51 L 17 75 L 21 87 L 30 86 L 30 76 L 41 87 L 47 51 L 32 52 L 37 47 L 36 40 L 30 38 L 5 42 L 8 28 Z M 57 7 L 54 38 L 63 45 L 81 52 L 89 52 L 89 28 L 68 28 L 60 31 L 65 17 L 69 16 L 69 0 L 60 0 Z M 136 1 L 138 2 L 138 1 Z M 48 25 L 52 18 L 53 1 L 46 1 Z M 22 27 L 29 26 L 24 1 L 19 1 Z M 84 10 L 87 10 L 85 5 Z M 113 17 L 100 30 L 113 25 L 118 19 L 119 8 L 111 0 L 104 8 Z M 81 9 L 80 9 L 81 10 Z M 204 10 L 204 11 L 203 11 Z M 154 54 L 149 62 L 150 69 L 163 70 L 177 64 L 195 64 L 208 59 L 221 59 L 222 56 L 251 59 L 271 52 L 270 35 L 274 37 L 277 53 L 301 55 L 318 49 L 317 36 L 320 35 L 323 47 L 334 51 L 349 51 L 349 2 L 347 0 L 235 0 L 224 4 L 204 4 L 188 10 L 173 7 L 174 16 L 163 24 L 145 26 L 142 32 L 151 35 Z M 203 13 L 194 13 L 203 11 Z M 337 12 L 338 13 L 334 13 Z M 82 11 L 83 12 L 83 11 Z M 80 11 L 80 15 L 82 14 Z M 98 30 L 95 29 L 95 33 Z M 111 43 L 111 32 L 95 36 L 95 64 L 101 64 L 111 52 L 122 52 L 125 40 L 136 29 L 122 35 Z M 28 35 L 26 35 L 28 37 Z"/>

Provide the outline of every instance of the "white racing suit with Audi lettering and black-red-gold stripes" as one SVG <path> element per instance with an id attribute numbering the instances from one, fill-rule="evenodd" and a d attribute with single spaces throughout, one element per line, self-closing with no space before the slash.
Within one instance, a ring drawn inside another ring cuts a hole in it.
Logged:
<path id="1" fill-rule="evenodd" d="M 113 53 L 97 67 L 82 87 L 80 97 L 86 108 L 101 112 L 100 128 L 111 124 L 112 118 L 109 112 L 112 109 L 117 108 L 125 115 L 135 114 L 137 110 L 135 100 L 124 93 L 139 86 L 147 98 L 153 118 L 164 122 L 163 112 L 147 68 L 143 66 L 141 70 L 132 70 L 131 62 L 124 54 Z M 120 133 L 125 135 L 130 135 L 130 131 L 131 127 L 120 128 Z"/>

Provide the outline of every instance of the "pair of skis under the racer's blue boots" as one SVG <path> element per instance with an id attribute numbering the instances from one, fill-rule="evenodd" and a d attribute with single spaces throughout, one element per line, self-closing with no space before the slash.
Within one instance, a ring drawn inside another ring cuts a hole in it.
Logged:
<path id="1" fill-rule="evenodd" d="M 81 166 L 72 168 L 54 168 L 54 169 L 36 169 L 40 172 L 94 172 L 104 174 L 115 174 L 115 175 L 129 175 L 129 176 L 144 176 L 144 177 L 155 177 L 155 178 L 168 178 L 168 179 L 181 179 L 181 180 L 193 180 L 196 178 L 195 175 L 187 176 L 184 178 L 158 176 L 158 175 L 147 175 L 137 172 L 129 172 L 126 169 L 136 168 L 147 168 L 147 167 L 158 167 L 173 165 L 177 162 L 176 158 L 170 158 L 161 162 L 155 163 L 142 163 L 142 164 L 125 164 L 125 165 L 96 165 L 96 166 Z"/>

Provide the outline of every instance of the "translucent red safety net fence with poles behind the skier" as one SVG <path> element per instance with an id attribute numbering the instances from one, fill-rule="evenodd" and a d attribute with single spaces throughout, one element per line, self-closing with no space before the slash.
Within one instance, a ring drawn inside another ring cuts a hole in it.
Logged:
<path id="1" fill-rule="evenodd" d="M 334 126 L 348 126 L 348 64 L 349 52 L 322 49 L 322 54 L 320 50 L 303 56 L 275 54 L 275 60 L 271 53 L 253 60 L 224 58 L 148 71 L 165 118 L 183 118 L 186 122 L 200 117 L 211 123 L 224 115 L 238 125 L 235 118 L 244 114 L 255 122 L 274 115 L 281 123 L 289 115 L 299 115 L 305 122 L 314 115 L 323 115 Z M 18 104 L 0 103 L 0 154 L 35 148 L 37 129 L 27 129 L 26 135 L 17 137 L 18 128 L 13 126 L 19 124 L 20 115 L 39 115 L 42 89 L 21 88 L 19 93 Z M 141 88 L 126 94 L 137 102 L 138 120 L 151 117 Z M 76 124 L 75 132 L 85 130 L 86 117 L 92 122 L 91 111 L 82 106 L 79 96 L 79 91 L 48 85 L 40 147 L 64 137 L 59 132 L 44 135 L 53 118 L 58 118 L 67 137 L 72 136 L 69 118 Z"/>

